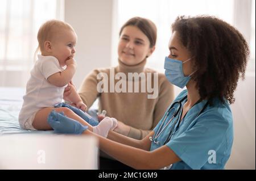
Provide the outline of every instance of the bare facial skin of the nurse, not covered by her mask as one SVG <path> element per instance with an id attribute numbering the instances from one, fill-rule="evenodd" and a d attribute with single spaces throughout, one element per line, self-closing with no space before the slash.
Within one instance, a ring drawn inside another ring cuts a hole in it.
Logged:
<path id="1" fill-rule="evenodd" d="M 172 36 L 170 38 L 169 41 L 169 50 L 170 50 L 170 54 L 169 54 L 169 58 L 175 59 L 175 60 L 179 60 L 181 62 L 188 60 L 191 57 L 191 54 L 189 53 L 189 50 L 187 48 L 185 48 L 183 46 L 183 44 L 181 43 L 180 39 L 179 39 L 179 35 L 178 33 L 175 31 L 174 33 L 172 33 Z M 182 67 L 183 67 L 183 74 L 185 76 L 190 75 L 191 73 L 193 73 L 193 59 L 185 62 Z"/>

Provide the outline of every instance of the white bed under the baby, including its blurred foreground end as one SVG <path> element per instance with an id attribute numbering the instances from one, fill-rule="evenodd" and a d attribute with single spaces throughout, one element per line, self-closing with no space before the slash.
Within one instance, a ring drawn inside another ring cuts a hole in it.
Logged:
<path id="1" fill-rule="evenodd" d="M 0 169 L 97 169 L 95 137 L 20 128 L 24 92 L 0 87 Z"/>

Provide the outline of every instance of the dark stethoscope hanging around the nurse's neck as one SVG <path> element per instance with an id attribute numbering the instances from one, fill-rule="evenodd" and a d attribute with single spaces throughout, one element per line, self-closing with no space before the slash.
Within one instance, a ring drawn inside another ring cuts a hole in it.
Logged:
<path id="1" fill-rule="evenodd" d="M 159 144 L 160 144 L 160 142 L 157 141 L 158 137 L 163 133 L 164 129 L 166 129 L 166 127 L 171 123 L 171 121 L 179 114 L 179 112 L 180 112 L 180 110 L 181 110 L 181 108 L 182 108 L 182 102 L 183 102 L 183 100 L 187 99 L 187 97 L 188 97 L 188 96 L 185 95 L 184 98 L 182 98 L 181 100 L 178 100 L 178 101 L 175 101 L 174 103 L 172 103 L 171 107 L 168 109 L 168 111 L 167 111 L 167 113 L 166 113 L 166 116 L 164 116 L 164 120 L 162 121 L 162 124 L 160 125 L 160 127 L 159 127 L 159 129 L 158 129 L 158 132 L 156 132 L 156 134 L 155 134 L 154 137 L 152 137 L 152 136 L 149 137 L 149 139 L 150 139 L 151 142 L 154 142 L 156 145 L 159 145 Z M 199 103 L 199 102 L 200 102 L 200 100 L 197 101 L 196 104 Z M 178 104 L 177 110 L 176 110 L 176 108 L 174 107 L 175 104 Z M 207 101 L 207 103 L 204 104 L 204 107 L 200 110 L 200 112 L 197 114 L 197 116 L 199 116 L 202 112 L 204 112 L 204 110 L 205 110 L 205 108 L 207 108 L 208 104 L 209 104 L 209 102 Z M 176 111 L 174 112 L 174 115 L 172 115 L 172 118 L 171 118 L 171 119 L 168 121 L 168 123 L 163 127 L 163 124 L 166 122 L 166 118 L 170 115 L 171 110 L 172 110 L 173 108 L 176 110 Z M 196 117 L 197 117 L 197 116 L 196 116 Z M 183 119 L 184 119 L 184 118 L 183 118 Z M 172 133 L 172 132 L 173 132 L 172 129 L 173 129 L 174 126 L 176 125 L 177 120 L 178 120 L 178 119 L 176 119 L 175 123 L 172 125 L 172 127 L 171 127 L 171 129 L 170 129 L 170 132 L 169 132 L 169 134 L 168 134 L 168 137 L 167 137 L 166 141 L 164 141 L 164 145 L 165 145 L 168 141 L 171 140 L 171 137 L 172 137 L 172 135 L 174 134 L 174 133 Z"/>

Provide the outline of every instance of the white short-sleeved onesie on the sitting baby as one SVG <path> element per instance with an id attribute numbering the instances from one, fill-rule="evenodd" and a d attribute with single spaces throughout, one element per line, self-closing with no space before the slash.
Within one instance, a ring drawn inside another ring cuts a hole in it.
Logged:
<path id="1" fill-rule="evenodd" d="M 54 107 L 63 102 L 63 92 L 67 85 L 57 87 L 47 81 L 50 75 L 63 70 L 57 58 L 38 55 L 38 60 L 30 72 L 26 95 L 23 96 L 22 109 L 19 113 L 20 127 L 33 130 L 32 121 L 36 112 L 44 107 Z"/>

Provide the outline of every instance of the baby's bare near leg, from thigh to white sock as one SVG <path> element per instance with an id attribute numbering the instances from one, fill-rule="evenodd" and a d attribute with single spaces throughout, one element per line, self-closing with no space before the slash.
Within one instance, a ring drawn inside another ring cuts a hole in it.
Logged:
<path id="1" fill-rule="evenodd" d="M 88 124 L 80 116 L 76 115 L 75 112 L 73 112 L 72 110 L 70 110 L 69 108 L 66 108 L 66 107 L 58 107 L 58 108 L 47 107 L 47 108 L 43 108 L 42 110 L 39 110 L 38 112 L 36 112 L 36 115 L 35 115 L 34 121 L 32 123 L 32 126 L 35 129 L 38 129 L 38 130 L 50 130 L 50 129 L 52 129 L 51 126 L 47 122 L 49 113 L 52 110 L 55 110 L 56 112 L 64 112 L 65 116 L 79 121 L 79 123 L 81 123 L 82 125 L 88 126 L 88 129 L 90 131 L 93 131 L 93 128 L 90 124 Z"/>

